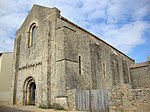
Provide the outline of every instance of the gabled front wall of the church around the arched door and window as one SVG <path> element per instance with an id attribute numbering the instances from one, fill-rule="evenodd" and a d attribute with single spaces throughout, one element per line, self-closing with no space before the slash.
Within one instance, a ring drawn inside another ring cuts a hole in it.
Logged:
<path id="1" fill-rule="evenodd" d="M 34 5 L 18 29 L 14 47 L 11 104 L 23 105 L 23 85 L 28 77 L 35 80 L 36 105 L 51 101 L 51 73 L 55 76 L 53 71 L 56 69 L 54 38 L 57 14 L 59 11 L 56 8 Z M 37 32 L 34 43 L 29 47 L 30 27 L 33 23 L 36 24 Z"/>

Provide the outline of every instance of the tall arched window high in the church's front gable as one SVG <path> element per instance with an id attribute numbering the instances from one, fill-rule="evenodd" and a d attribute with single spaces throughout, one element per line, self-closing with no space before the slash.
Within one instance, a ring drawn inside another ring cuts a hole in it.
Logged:
<path id="1" fill-rule="evenodd" d="M 33 23 L 29 29 L 28 47 L 32 47 L 35 44 L 36 36 L 37 36 L 37 26 L 35 23 Z"/>

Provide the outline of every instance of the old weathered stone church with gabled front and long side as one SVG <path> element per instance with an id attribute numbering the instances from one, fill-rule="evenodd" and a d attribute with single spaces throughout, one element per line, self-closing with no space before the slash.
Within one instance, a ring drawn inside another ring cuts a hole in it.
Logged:
<path id="1" fill-rule="evenodd" d="M 149 85 L 140 86 L 150 88 L 150 61 L 145 65 Z M 121 51 L 62 17 L 57 8 L 34 5 L 16 33 L 11 104 L 59 103 L 75 110 L 76 91 L 106 89 L 109 110 L 124 110 L 127 104 L 117 91 L 126 88 L 130 93 L 132 85 L 140 88 L 133 80 L 139 67 Z M 110 101 L 114 94 L 116 102 L 121 99 L 119 107 Z"/>

